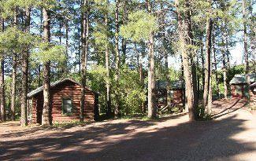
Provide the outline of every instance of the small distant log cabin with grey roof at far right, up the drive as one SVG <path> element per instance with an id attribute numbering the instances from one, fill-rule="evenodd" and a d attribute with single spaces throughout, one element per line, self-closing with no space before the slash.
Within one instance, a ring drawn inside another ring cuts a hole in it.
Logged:
<path id="1" fill-rule="evenodd" d="M 249 74 L 250 83 L 256 82 L 256 73 Z M 249 97 L 246 75 L 235 75 L 230 81 L 232 97 Z"/>

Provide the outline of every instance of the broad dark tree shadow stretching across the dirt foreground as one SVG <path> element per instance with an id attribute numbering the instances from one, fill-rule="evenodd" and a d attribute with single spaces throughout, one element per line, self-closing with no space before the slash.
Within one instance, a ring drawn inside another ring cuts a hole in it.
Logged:
<path id="1" fill-rule="evenodd" d="M 180 116 L 181 117 L 181 116 Z M 166 121 L 166 122 L 165 122 Z M 76 131 L 2 141 L 2 160 L 216 160 L 254 152 L 253 142 L 232 138 L 243 132 L 243 123 L 226 119 L 180 123 L 169 119 L 128 120 Z"/>

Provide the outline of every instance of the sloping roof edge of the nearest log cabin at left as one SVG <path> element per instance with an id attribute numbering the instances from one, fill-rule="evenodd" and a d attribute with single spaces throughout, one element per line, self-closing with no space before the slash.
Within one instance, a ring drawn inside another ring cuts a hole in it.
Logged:
<path id="1" fill-rule="evenodd" d="M 63 82 L 67 82 L 67 81 L 74 82 L 74 83 L 76 83 L 76 84 L 78 84 L 78 85 L 81 86 L 80 82 L 76 82 L 76 81 L 73 80 L 73 79 L 67 78 L 67 79 L 61 79 L 61 80 L 58 80 L 58 81 L 56 81 L 56 82 L 50 83 L 50 88 L 53 88 L 54 86 L 58 86 L 59 84 L 61 84 L 61 83 L 63 83 Z M 86 88 L 87 90 L 90 90 L 90 91 L 93 92 L 93 93 L 99 94 L 98 92 L 95 92 L 95 91 L 91 90 L 91 89 L 90 89 L 89 87 L 87 87 L 87 86 L 86 86 L 85 88 Z M 42 92 L 42 91 L 43 91 L 43 86 L 40 86 L 39 88 L 37 88 L 37 89 L 35 89 L 35 90 L 32 90 L 30 93 L 28 93 L 28 97 L 33 97 L 33 96 L 35 96 L 35 94 L 40 93 L 40 92 Z"/>

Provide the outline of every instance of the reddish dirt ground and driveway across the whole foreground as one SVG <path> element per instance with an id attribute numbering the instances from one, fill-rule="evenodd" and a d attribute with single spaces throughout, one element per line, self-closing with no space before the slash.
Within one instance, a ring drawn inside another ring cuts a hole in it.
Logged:
<path id="1" fill-rule="evenodd" d="M 256 116 L 246 101 L 214 101 L 211 121 L 185 113 L 86 126 L 0 124 L 1 160 L 256 160 Z"/>

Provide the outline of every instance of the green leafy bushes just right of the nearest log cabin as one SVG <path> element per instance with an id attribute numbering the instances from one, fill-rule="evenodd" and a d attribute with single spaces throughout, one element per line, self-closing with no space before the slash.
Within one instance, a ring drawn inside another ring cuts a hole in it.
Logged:
<path id="1" fill-rule="evenodd" d="M 100 94 L 99 101 L 101 102 L 101 111 L 106 112 L 106 68 L 102 66 L 93 66 L 88 71 L 88 86 L 91 86 L 92 90 L 98 91 Z M 117 90 L 120 95 L 121 101 L 121 113 L 123 115 L 134 114 L 141 112 L 141 104 L 146 100 L 146 90 L 139 82 L 139 73 L 123 67 L 121 70 L 121 80 L 117 87 L 117 84 L 113 81 L 113 75 L 111 75 L 111 100 L 114 102 L 114 94 Z"/>

